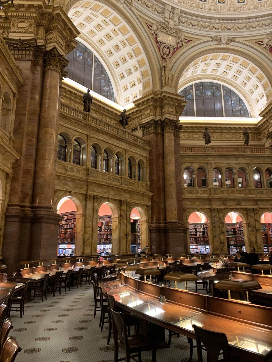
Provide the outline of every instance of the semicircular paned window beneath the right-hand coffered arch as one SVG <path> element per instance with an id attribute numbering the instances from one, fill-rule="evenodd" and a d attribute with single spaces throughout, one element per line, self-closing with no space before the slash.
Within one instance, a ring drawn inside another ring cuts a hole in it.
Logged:
<path id="1" fill-rule="evenodd" d="M 179 93 L 185 97 L 182 116 L 249 117 L 243 100 L 230 88 L 219 83 L 194 83 Z"/>

